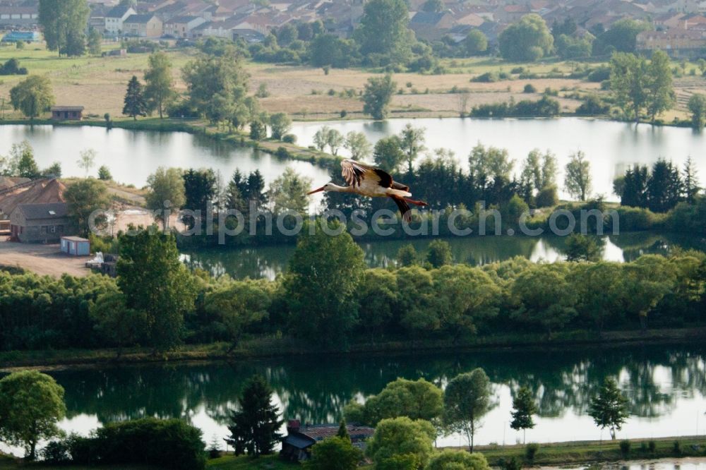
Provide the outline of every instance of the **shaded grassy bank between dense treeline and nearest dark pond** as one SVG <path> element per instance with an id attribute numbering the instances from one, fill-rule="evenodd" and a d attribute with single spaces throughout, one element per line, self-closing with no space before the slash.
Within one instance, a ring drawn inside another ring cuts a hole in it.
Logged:
<path id="1" fill-rule="evenodd" d="M 661 330 L 575 331 L 561 332 L 551 338 L 540 334 L 488 335 L 466 341 L 405 340 L 357 342 L 347 351 L 322 351 L 292 338 L 262 337 L 247 339 L 229 351 L 228 343 L 189 344 L 174 351 L 155 353 L 148 348 L 47 349 L 40 351 L 0 352 L 0 372 L 16 368 L 42 370 L 80 368 L 128 363 L 180 361 L 237 361 L 278 356 L 311 356 L 321 354 L 409 354 L 441 351 L 489 351 L 493 349 L 566 349 L 567 347 L 621 347 L 626 344 L 684 344 L 706 339 L 706 327 Z"/>

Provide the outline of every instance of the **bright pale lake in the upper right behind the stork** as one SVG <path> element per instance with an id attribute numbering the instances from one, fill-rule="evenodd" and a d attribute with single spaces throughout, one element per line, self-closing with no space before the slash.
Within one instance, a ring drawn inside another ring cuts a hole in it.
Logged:
<path id="1" fill-rule="evenodd" d="M 581 150 L 591 162 L 593 193 L 609 200 L 616 198 L 613 180 L 632 164 L 650 165 L 658 158 L 671 159 L 680 167 L 688 156 L 693 157 L 699 174 L 706 177 L 706 133 L 688 128 L 652 127 L 601 121 L 597 119 L 390 119 L 373 121 L 332 121 L 295 123 L 292 132 L 299 145 L 313 145 L 313 135 L 322 126 L 342 133 L 359 131 L 371 142 L 400 133 L 407 123 L 426 128 L 429 150 L 447 148 L 467 167 L 468 155 L 477 143 L 508 149 L 515 159 L 515 171 L 530 150 L 549 149 L 556 155 L 559 166 L 558 183 L 563 186 L 563 168 L 568 157 Z M 341 154 L 346 155 L 342 149 Z M 414 189 L 414 188 L 412 188 Z M 568 198 L 566 193 L 561 197 Z"/>

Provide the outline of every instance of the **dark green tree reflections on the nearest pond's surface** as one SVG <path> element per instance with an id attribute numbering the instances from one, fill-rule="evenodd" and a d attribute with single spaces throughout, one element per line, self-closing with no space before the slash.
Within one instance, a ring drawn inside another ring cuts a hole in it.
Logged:
<path id="1" fill-rule="evenodd" d="M 706 394 L 705 356 L 705 349 L 697 347 L 301 356 L 52 374 L 66 389 L 69 417 L 96 414 L 101 422 L 189 416 L 190 411 L 203 407 L 215 421 L 227 423 L 242 385 L 256 372 L 272 383 L 285 418 L 332 422 L 340 418 L 349 400 L 378 393 L 397 377 L 424 377 L 445 385 L 457 373 L 476 367 L 484 368 L 496 386 L 508 385 L 513 396 L 520 386 L 529 386 L 542 417 L 562 416 L 567 409 L 585 414 L 607 375 L 621 378 L 633 415 L 658 417 L 669 414 L 679 397 Z"/>

